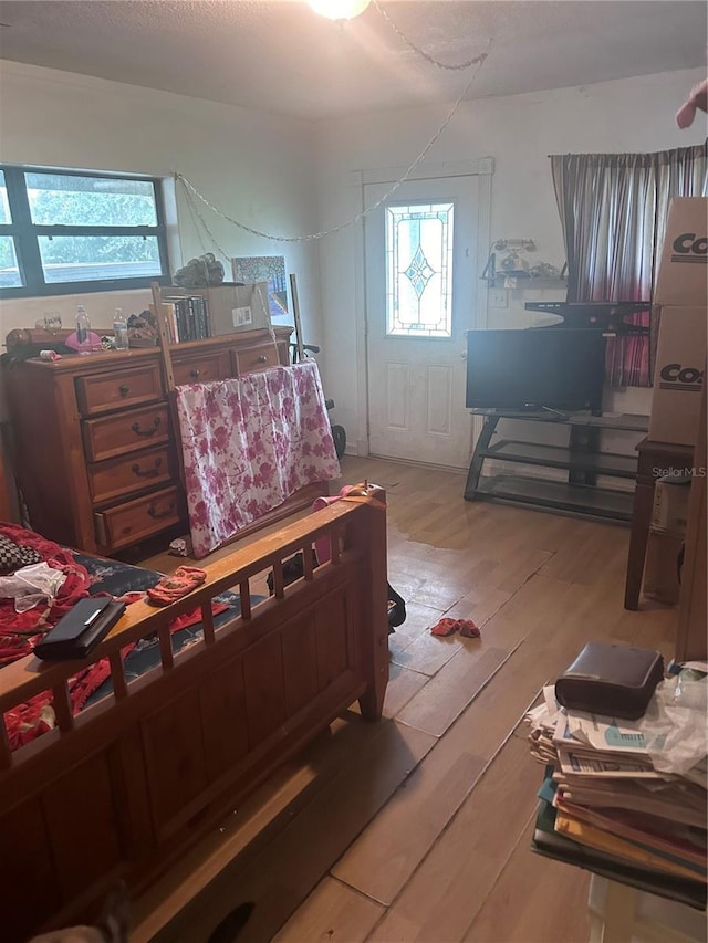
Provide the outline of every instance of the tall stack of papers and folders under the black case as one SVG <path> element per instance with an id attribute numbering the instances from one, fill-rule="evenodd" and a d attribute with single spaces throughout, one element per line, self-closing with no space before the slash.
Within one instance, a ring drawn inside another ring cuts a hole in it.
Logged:
<path id="1" fill-rule="evenodd" d="M 545 764 L 533 850 L 604 877 L 706 905 L 706 761 L 658 772 L 637 723 L 566 711 L 553 688 L 527 720 Z"/>

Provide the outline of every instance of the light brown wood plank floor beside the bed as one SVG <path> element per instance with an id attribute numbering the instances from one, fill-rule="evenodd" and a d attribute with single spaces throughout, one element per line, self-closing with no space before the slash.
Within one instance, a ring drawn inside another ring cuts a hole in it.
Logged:
<path id="1" fill-rule="evenodd" d="M 586 941 L 589 877 L 534 856 L 542 769 L 520 722 L 585 641 L 673 653 L 676 611 L 623 609 L 628 530 L 462 499 L 461 475 L 345 458 L 388 493 L 385 720 L 352 710 L 136 902 L 136 941 Z M 442 615 L 481 639 L 436 638 Z"/>

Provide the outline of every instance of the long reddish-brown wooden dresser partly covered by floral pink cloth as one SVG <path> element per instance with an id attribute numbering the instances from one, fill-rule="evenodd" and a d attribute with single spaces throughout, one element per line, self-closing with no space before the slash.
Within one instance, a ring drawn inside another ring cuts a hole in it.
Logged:
<path id="1" fill-rule="evenodd" d="M 242 376 L 289 363 L 290 327 L 174 345 L 175 384 Z M 160 350 L 110 350 L 6 367 L 14 463 L 32 526 L 111 555 L 163 531 L 188 533 Z M 326 493 L 296 495 L 239 536 Z"/>

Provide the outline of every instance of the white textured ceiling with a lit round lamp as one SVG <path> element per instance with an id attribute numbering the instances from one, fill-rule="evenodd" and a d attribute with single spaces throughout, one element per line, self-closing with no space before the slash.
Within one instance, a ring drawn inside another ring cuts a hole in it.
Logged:
<path id="1" fill-rule="evenodd" d="M 707 11 L 702 0 L 373 0 L 340 25 L 299 0 L 23 0 L 0 2 L 0 57 L 319 119 L 457 99 L 471 72 L 436 67 L 400 33 L 449 64 L 489 48 L 472 98 L 705 65 Z"/>

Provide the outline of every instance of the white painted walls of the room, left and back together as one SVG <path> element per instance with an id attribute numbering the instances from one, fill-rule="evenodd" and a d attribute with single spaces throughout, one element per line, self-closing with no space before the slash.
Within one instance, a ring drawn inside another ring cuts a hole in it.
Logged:
<path id="1" fill-rule="evenodd" d="M 421 66 L 425 67 L 425 66 Z M 532 238 L 532 261 L 562 265 L 563 247 L 549 154 L 646 151 L 701 142 L 701 118 L 687 132 L 674 113 L 700 70 L 465 103 L 427 158 L 441 164 L 492 156 L 491 237 Z M 449 106 L 360 115 L 313 126 L 243 108 L 54 70 L 0 62 L 0 161 L 169 176 L 179 170 L 225 212 L 267 232 L 302 235 L 337 226 L 361 209 L 354 170 L 408 166 Z M 185 261 L 202 244 L 179 196 Z M 363 440 L 357 313 L 363 304 L 361 226 L 317 243 L 278 243 L 207 217 L 228 255 L 284 254 L 298 274 L 305 338 L 320 360 L 334 418 L 351 443 Z M 178 263 L 180 260 L 176 260 Z M 320 274 L 321 273 L 321 274 Z M 559 295 L 550 295 L 558 298 Z M 562 296 L 561 296 L 562 297 Z M 84 298 L 85 300 L 85 298 Z M 523 301 L 489 321 L 513 326 Z M 116 304 L 142 307 L 147 294 L 106 297 L 94 323 Z M 76 298 L 28 298 L 0 306 L 0 340 L 59 310 L 71 323 Z M 98 305 L 98 301 L 95 302 Z M 648 411 L 648 392 L 629 390 L 610 408 Z"/>

